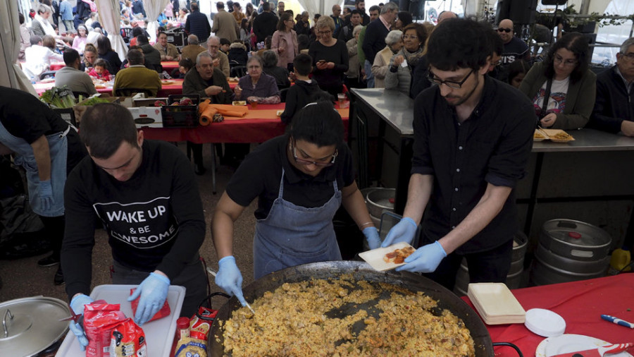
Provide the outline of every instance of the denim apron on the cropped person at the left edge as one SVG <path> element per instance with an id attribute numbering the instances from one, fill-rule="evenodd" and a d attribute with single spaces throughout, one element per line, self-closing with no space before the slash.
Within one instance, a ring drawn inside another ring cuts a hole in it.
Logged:
<path id="1" fill-rule="evenodd" d="M 53 205 L 49 210 L 44 210 L 42 200 L 39 198 L 37 186 L 39 176 L 37 174 L 37 164 L 33 148 L 26 140 L 17 138 L 9 133 L 2 122 L 0 122 L 0 143 L 15 152 L 13 162 L 24 167 L 26 170 L 29 185 L 29 200 L 33 212 L 44 217 L 59 217 L 64 214 L 64 183 L 66 183 L 66 158 L 68 152 L 68 141 L 66 135 L 70 131 L 68 126 L 66 131 L 46 135 L 49 141 L 49 152 L 51 155 L 51 187 L 53 188 Z"/>

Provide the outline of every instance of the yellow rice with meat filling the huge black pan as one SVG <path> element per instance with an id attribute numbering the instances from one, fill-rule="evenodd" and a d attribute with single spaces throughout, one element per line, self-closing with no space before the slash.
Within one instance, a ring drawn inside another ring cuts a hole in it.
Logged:
<path id="1" fill-rule="evenodd" d="M 220 321 L 225 356 L 475 356 L 464 321 L 430 296 L 349 274 L 285 283 L 252 305 L 256 318 L 242 307 Z"/>

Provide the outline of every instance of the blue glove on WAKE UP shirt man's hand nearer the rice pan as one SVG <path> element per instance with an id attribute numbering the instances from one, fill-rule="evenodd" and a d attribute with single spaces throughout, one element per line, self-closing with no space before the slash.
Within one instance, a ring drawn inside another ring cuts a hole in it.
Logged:
<path id="1" fill-rule="evenodd" d="M 135 322 L 142 326 L 148 322 L 156 313 L 161 310 L 165 299 L 167 298 L 168 289 L 170 287 L 170 279 L 163 277 L 161 274 L 150 273 L 147 278 L 135 290 L 128 301 L 139 299 L 139 306 L 135 314 Z"/>

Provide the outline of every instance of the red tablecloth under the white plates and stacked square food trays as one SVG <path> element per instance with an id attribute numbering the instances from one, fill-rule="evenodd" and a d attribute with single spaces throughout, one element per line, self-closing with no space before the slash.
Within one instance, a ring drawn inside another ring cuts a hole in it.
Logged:
<path id="1" fill-rule="evenodd" d="M 602 314 L 634 322 L 634 274 L 583 280 L 564 284 L 535 286 L 511 290 L 524 310 L 545 308 L 564 317 L 566 334 L 583 334 L 611 343 L 634 341 L 627 327 L 601 319 Z M 467 296 L 463 297 L 473 308 Z M 475 308 L 474 308 L 475 310 Z M 488 325 L 493 342 L 516 344 L 524 356 L 535 356 L 535 349 L 545 337 L 530 332 L 523 324 Z M 495 356 L 515 357 L 510 347 L 497 347 Z"/>

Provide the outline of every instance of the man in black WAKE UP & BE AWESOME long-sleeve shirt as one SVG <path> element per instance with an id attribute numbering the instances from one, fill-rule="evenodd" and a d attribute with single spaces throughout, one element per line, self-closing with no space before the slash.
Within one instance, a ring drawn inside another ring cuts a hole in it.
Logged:
<path id="1" fill-rule="evenodd" d="M 206 295 L 199 261 L 205 223 L 187 157 L 168 143 L 144 140 L 130 111 L 118 104 L 88 109 L 80 136 L 90 157 L 75 167 L 64 192 L 72 223 L 66 226 L 61 263 L 71 308 L 82 313 L 91 302 L 98 218 L 112 248 L 113 284 L 140 284 L 135 322 L 142 325 L 161 308 L 170 284 L 187 289 L 180 315 L 191 316 Z"/>

